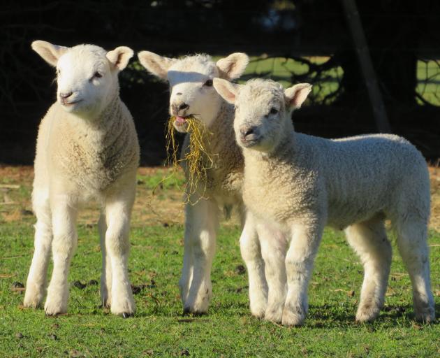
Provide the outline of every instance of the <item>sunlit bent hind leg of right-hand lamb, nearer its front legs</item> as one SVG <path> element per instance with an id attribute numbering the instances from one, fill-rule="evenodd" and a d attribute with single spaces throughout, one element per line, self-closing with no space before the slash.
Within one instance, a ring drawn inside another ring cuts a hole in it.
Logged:
<path id="1" fill-rule="evenodd" d="M 390 275 L 391 245 L 380 217 L 351 225 L 346 236 L 365 271 L 356 321 L 369 322 L 379 316 L 383 306 Z"/>

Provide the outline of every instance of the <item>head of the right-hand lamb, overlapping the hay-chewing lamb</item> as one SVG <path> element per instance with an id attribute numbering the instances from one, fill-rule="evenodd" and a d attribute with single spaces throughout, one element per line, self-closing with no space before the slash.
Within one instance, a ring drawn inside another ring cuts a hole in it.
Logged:
<path id="1" fill-rule="evenodd" d="M 292 110 L 300 108 L 311 91 L 308 83 L 283 90 L 279 83 L 261 79 L 234 85 L 214 78 L 214 88 L 223 99 L 235 103 L 234 130 L 238 145 L 261 152 L 272 152 L 291 133 Z"/>

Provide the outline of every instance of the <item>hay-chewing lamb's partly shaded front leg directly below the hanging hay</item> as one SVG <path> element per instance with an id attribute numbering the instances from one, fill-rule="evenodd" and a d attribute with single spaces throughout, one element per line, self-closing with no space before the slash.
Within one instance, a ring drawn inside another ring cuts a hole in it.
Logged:
<path id="1" fill-rule="evenodd" d="M 217 203 L 200 199 L 194 205 L 186 205 L 185 245 L 192 256 L 192 280 L 184 302 L 185 313 L 207 312 L 212 296 L 211 268 L 214 259 L 219 209 Z M 186 262 L 182 272 L 181 287 L 186 287 L 191 268 Z M 185 294 L 182 292 L 182 297 Z"/>

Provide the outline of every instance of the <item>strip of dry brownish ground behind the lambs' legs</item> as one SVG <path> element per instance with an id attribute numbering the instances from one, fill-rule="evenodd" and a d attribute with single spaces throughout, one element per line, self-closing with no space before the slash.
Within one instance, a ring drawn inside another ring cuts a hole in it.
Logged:
<path id="1" fill-rule="evenodd" d="M 138 169 L 140 176 L 157 176 L 163 172 L 163 166 L 141 167 Z M 164 173 L 163 176 L 168 174 Z M 0 223 L 19 222 L 27 210 L 31 208 L 31 187 L 34 179 L 32 166 L 0 166 Z M 430 227 L 440 231 L 440 166 L 430 166 L 432 214 Z M 8 187 L 1 187 L 8 186 Z M 18 185 L 19 188 L 14 186 Z M 24 192 L 25 194 L 18 194 Z M 28 193 L 28 194 L 27 194 Z M 5 200 L 7 198 L 7 200 Z M 168 226 L 170 224 L 183 224 L 184 204 L 182 189 L 166 188 L 159 185 L 152 189 L 138 184 L 136 199 L 133 206 L 132 225 L 157 225 Z M 90 203 L 80 211 L 78 222 L 80 224 L 95 225 L 98 222 L 99 211 L 97 203 Z M 34 220 L 31 217 L 31 220 Z M 225 222 L 226 225 L 237 224 L 237 215 Z"/>

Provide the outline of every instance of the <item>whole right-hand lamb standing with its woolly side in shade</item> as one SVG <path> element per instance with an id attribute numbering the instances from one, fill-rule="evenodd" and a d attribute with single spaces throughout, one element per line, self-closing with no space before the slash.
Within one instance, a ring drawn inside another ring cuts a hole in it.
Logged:
<path id="1" fill-rule="evenodd" d="M 272 80 L 214 87 L 235 103 L 234 129 L 244 155 L 243 201 L 256 222 L 268 285 L 265 319 L 300 325 L 323 228 L 345 229 L 365 277 L 356 320 L 383 306 L 391 263 L 384 220 L 397 233 L 409 272 L 416 320 L 434 321 L 427 223 L 430 180 L 423 156 L 388 134 L 328 140 L 294 131 L 291 112 L 311 85 L 287 90 Z M 286 289 L 287 288 L 287 289 Z"/>

